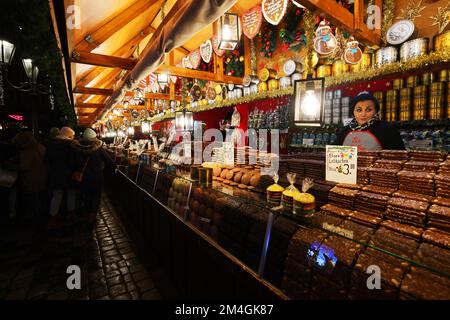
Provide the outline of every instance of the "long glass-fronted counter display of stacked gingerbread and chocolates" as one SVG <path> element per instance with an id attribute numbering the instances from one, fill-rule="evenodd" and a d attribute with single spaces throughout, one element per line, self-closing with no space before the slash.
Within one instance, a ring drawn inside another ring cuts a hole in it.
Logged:
<path id="1" fill-rule="evenodd" d="M 265 279 L 292 298 L 325 294 L 329 298 L 448 299 L 450 236 L 443 231 L 444 227 L 433 227 L 433 221 L 450 210 L 448 191 L 445 191 L 448 183 L 445 187 L 445 179 L 442 180 L 449 172 L 447 154 L 362 153 L 358 185 L 324 181 L 323 157 L 323 152 L 284 156 L 280 159 L 278 183 L 258 172 L 248 174 L 242 181 L 245 166 L 204 168 L 212 174 L 209 184 L 202 178 L 209 177 L 208 174 L 200 176 L 199 172 L 197 179 L 194 173 L 192 179 L 187 166 L 178 171 L 173 167 L 171 172 L 168 168 L 159 168 L 163 170 L 160 174 L 170 177 L 170 182 L 161 180 L 165 189 L 160 194 L 165 196 L 163 203 L 167 203 L 174 214 L 182 216 L 185 222 L 242 261 L 252 261 L 249 263 L 252 269 L 258 268 Z M 424 185 L 424 182 L 412 181 L 431 174 L 417 167 L 425 165 L 425 159 L 437 164 L 432 170 L 435 173 L 431 187 L 428 187 L 430 182 Z M 422 160 L 422 164 L 417 163 L 418 160 Z M 396 169 L 392 169 L 394 167 Z M 151 167 L 147 170 L 155 175 Z M 294 183 L 286 179 L 288 171 L 297 173 Z M 392 174 L 396 176 L 394 180 Z M 395 181 L 395 186 L 386 184 L 383 176 Z M 307 192 L 298 191 L 302 190 L 302 182 L 307 177 L 315 177 L 315 185 Z M 228 181 L 225 183 L 225 180 Z M 239 184 L 247 180 L 256 187 L 239 188 Z M 232 186 L 231 182 L 237 185 Z M 422 187 L 412 190 L 408 185 Z M 222 225 L 224 221 L 229 225 Z M 255 221 L 258 222 L 255 224 Z M 245 225 L 245 231 L 233 235 L 230 225 L 233 228 Z M 252 228 L 259 230 L 256 242 L 248 238 L 251 232 L 256 232 Z M 266 239 L 267 229 L 271 230 L 271 235 Z M 262 244 L 266 243 L 263 239 L 268 240 L 264 257 L 259 256 Z M 258 243 L 257 249 L 253 246 L 253 259 L 243 253 L 249 253 L 245 241 Z M 262 270 L 261 261 L 265 266 Z M 383 270 L 381 291 L 363 286 L 370 265 L 378 265 Z M 309 275 L 307 281 L 305 275 Z M 330 284 L 331 289 L 320 293 L 319 287 Z"/>

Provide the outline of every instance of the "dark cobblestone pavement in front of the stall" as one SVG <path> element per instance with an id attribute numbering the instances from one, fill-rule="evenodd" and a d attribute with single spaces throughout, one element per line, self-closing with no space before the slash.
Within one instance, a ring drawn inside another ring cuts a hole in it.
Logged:
<path id="1" fill-rule="evenodd" d="M 42 225 L 0 228 L 0 299 L 161 299 L 106 196 L 94 229 L 79 222 L 48 232 Z M 67 289 L 69 265 L 80 267 L 80 290 Z"/>

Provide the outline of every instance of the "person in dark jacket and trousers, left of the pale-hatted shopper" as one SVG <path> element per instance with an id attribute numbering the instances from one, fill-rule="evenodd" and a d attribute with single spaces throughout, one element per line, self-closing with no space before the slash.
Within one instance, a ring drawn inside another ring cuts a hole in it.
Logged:
<path id="1" fill-rule="evenodd" d="M 46 158 L 48 162 L 48 187 L 51 191 L 50 219 L 48 229 L 61 226 L 59 209 L 64 195 L 66 195 L 67 214 L 70 222 L 76 220 L 75 215 L 75 185 L 71 176 L 74 171 L 72 148 L 75 132 L 69 127 L 63 127 L 58 135 L 49 141 Z"/>

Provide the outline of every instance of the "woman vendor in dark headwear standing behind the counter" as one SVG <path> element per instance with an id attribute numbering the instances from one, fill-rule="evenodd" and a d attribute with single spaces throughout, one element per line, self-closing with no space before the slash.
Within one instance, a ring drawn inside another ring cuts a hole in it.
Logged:
<path id="1" fill-rule="evenodd" d="M 338 132 L 336 144 L 357 146 L 358 151 L 405 150 L 397 129 L 380 120 L 380 105 L 369 92 L 359 93 L 352 100 L 350 111 L 353 119 Z"/>

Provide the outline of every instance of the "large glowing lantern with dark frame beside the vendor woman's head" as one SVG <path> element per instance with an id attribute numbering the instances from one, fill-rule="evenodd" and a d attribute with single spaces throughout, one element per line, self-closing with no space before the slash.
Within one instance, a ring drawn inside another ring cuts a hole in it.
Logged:
<path id="1" fill-rule="evenodd" d="M 296 126 L 319 127 L 323 117 L 325 78 L 313 78 L 311 74 L 305 80 L 294 82 L 292 99 L 292 122 Z"/>

